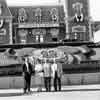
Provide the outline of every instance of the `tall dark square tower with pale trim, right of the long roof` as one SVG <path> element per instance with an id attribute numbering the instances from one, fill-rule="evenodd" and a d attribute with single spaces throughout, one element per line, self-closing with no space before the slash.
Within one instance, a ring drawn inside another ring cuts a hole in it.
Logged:
<path id="1" fill-rule="evenodd" d="M 89 0 L 65 0 L 65 11 L 66 39 L 91 42 Z"/>

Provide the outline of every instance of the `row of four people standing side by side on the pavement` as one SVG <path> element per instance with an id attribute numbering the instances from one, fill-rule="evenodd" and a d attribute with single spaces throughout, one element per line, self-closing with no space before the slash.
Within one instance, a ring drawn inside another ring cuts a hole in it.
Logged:
<path id="1" fill-rule="evenodd" d="M 37 59 L 34 64 L 35 76 L 38 85 L 38 91 L 42 91 L 42 85 L 44 83 L 46 91 L 51 91 L 51 79 L 53 79 L 54 90 L 61 91 L 61 77 L 62 77 L 62 64 L 55 60 L 50 62 L 48 59 Z M 24 93 L 26 90 L 30 92 L 32 65 L 28 58 L 25 59 L 23 64 L 24 75 Z M 44 81 L 44 82 L 43 82 Z M 58 89 L 57 89 L 58 87 Z"/>

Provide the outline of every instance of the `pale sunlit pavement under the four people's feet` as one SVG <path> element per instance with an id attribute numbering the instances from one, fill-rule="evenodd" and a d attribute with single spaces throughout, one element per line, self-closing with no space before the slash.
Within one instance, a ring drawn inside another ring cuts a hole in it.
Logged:
<path id="1" fill-rule="evenodd" d="M 63 86 L 61 92 L 31 90 L 31 94 L 23 94 L 23 89 L 1 89 L 0 100 L 100 100 L 100 85 Z"/>

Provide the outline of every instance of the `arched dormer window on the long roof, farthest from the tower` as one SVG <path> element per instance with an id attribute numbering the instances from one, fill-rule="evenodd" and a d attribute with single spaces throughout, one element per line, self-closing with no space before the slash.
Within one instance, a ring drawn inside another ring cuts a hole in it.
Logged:
<path id="1" fill-rule="evenodd" d="M 19 9 L 18 12 L 18 21 L 25 22 L 27 20 L 27 14 L 24 8 Z"/>

